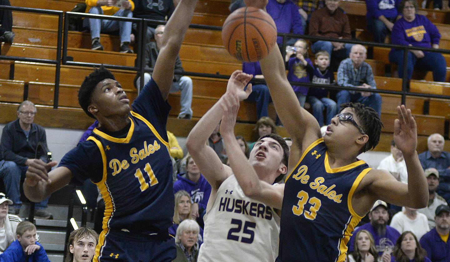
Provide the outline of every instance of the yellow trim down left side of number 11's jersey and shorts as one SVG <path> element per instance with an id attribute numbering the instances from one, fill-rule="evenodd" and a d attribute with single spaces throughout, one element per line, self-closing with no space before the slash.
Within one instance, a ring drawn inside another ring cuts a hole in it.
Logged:
<path id="1" fill-rule="evenodd" d="M 93 262 L 99 262 L 99 256 L 101 255 L 103 247 L 106 245 L 105 237 L 106 237 L 106 235 L 108 235 L 108 232 L 109 232 L 108 225 L 109 225 L 109 221 L 112 218 L 112 215 L 113 215 L 112 213 L 114 211 L 114 200 L 112 200 L 112 196 L 109 192 L 108 185 L 106 183 L 106 178 L 107 178 L 106 154 L 103 149 L 103 145 L 97 138 L 94 138 L 93 136 L 90 136 L 86 140 L 92 140 L 93 142 L 95 142 L 97 147 L 99 147 L 99 151 L 100 151 L 100 154 L 102 155 L 102 162 L 103 162 L 102 180 L 98 183 L 95 183 L 97 185 L 97 187 L 99 187 L 100 194 L 102 195 L 102 198 L 105 202 L 105 211 L 104 211 L 104 217 L 103 217 L 103 223 L 102 223 L 103 231 L 99 235 L 99 243 L 95 247 L 95 255 L 94 255 L 94 260 L 93 260 Z"/>

